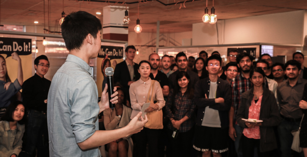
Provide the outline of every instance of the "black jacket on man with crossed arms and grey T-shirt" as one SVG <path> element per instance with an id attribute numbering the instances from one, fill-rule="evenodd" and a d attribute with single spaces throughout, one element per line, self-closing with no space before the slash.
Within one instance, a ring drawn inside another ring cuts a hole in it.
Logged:
<path id="1" fill-rule="evenodd" d="M 221 78 L 218 78 L 216 83 L 216 98 L 224 98 L 224 103 L 215 103 L 215 99 L 205 98 L 205 94 L 209 97 L 209 77 L 199 80 L 195 85 L 194 100 L 196 106 L 198 106 L 196 124 L 201 126 L 205 114 L 205 108 L 209 106 L 209 108 L 219 111 L 221 128 L 227 128 L 229 126 L 228 112 L 231 107 L 231 90 L 229 83 Z"/>

